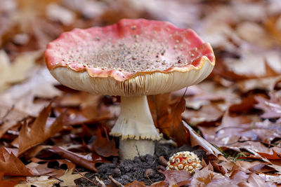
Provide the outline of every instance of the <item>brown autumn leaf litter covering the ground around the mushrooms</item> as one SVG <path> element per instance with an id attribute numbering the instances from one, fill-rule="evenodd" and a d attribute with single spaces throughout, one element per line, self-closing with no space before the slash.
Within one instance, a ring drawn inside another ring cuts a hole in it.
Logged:
<path id="1" fill-rule="evenodd" d="M 108 135 L 119 98 L 59 85 L 41 57 L 61 32 L 121 18 L 190 27 L 216 54 L 207 81 L 148 97 L 163 139 L 133 161 Z M 280 20 L 277 1 L 1 1 L 0 186 L 280 185 Z M 204 168 L 166 170 L 176 151 Z"/>

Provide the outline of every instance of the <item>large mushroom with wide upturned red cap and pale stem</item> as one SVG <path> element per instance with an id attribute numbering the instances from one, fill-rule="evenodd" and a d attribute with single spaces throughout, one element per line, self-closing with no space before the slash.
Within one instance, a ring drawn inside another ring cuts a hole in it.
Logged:
<path id="1" fill-rule="evenodd" d="M 146 95 L 199 83 L 215 64 L 209 43 L 191 29 L 143 19 L 65 32 L 48 44 L 44 57 L 63 85 L 121 97 L 110 134 L 120 137 L 122 159 L 153 154 L 160 139 Z"/>

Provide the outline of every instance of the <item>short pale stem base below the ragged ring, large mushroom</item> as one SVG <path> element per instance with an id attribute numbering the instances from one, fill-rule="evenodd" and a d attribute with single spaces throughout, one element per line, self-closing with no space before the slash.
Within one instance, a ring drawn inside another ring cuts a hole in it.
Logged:
<path id="1" fill-rule="evenodd" d="M 133 160 L 135 156 L 150 154 L 155 150 L 155 141 L 148 139 L 120 139 L 119 158 Z"/>

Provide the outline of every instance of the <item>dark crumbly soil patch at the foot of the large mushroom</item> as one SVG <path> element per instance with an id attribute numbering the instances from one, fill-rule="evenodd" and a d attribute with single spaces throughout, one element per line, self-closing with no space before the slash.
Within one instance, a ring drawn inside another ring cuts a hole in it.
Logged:
<path id="1" fill-rule="evenodd" d="M 159 162 L 159 157 L 164 156 L 166 160 L 169 160 L 169 157 L 178 151 L 193 151 L 200 159 L 205 156 L 202 149 L 194 150 L 187 145 L 177 148 L 172 144 L 157 144 L 155 155 L 145 155 L 136 157 L 134 160 L 123 160 L 122 162 L 118 162 L 118 158 L 113 158 L 112 163 L 103 163 L 98 166 L 98 173 L 86 173 L 85 176 L 95 182 L 97 182 L 96 176 L 98 176 L 98 179 L 105 184 L 111 182 L 108 176 L 112 176 L 123 185 L 133 181 L 143 181 L 146 185 L 150 185 L 151 181 L 154 183 L 165 179 L 159 170 L 159 168 L 164 169 L 164 166 Z M 84 178 L 77 179 L 74 182 L 79 187 L 96 186 Z"/>

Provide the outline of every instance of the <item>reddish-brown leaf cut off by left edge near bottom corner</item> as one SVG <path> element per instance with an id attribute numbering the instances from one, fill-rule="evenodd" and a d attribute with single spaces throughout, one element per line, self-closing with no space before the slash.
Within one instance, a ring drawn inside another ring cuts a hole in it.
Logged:
<path id="1" fill-rule="evenodd" d="M 0 171 L 6 176 L 30 176 L 30 169 L 13 153 L 9 153 L 4 146 L 0 148 Z"/>

